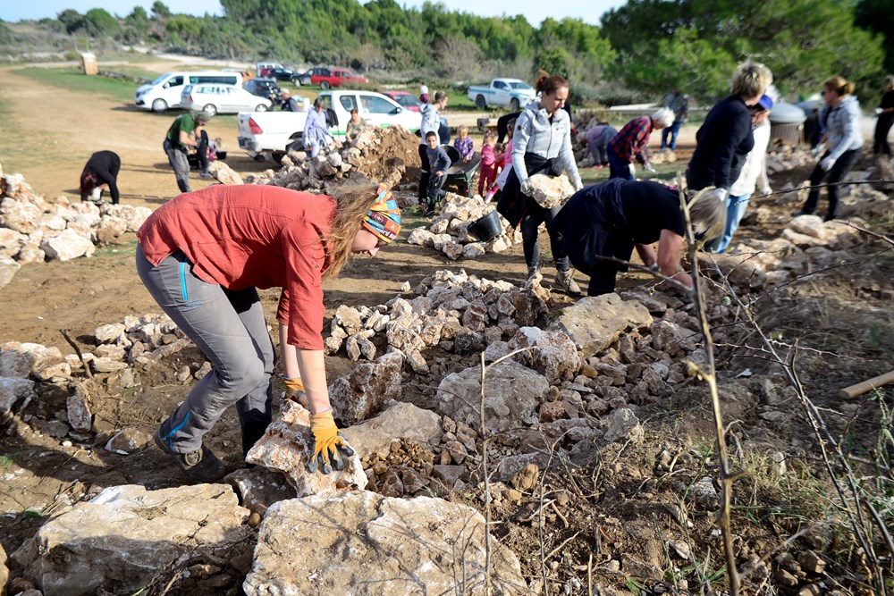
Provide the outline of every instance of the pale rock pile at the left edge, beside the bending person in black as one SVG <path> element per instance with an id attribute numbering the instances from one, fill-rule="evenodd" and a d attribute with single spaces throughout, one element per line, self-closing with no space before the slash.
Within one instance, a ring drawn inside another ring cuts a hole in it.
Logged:
<path id="1" fill-rule="evenodd" d="M 0 175 L 0 287 L 22 264 L 91 256 L 97 244 L 137 231 L 151 213 L 147 207 L 72 203 L 66 197 L 51 203 L 21 174 Z"/>

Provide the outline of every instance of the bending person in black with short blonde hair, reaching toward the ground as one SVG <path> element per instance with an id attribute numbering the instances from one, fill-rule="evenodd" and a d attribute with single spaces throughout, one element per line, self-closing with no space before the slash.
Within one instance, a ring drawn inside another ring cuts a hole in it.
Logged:
<path id="1" fill-rule="evenodd" d="M 721 235 L 726 206 L 710 196 L 696 195 L 689 214 L 697 238 L 710 240 Z M 568 199 L 550 224 L 551 233 L 561 235 L 563 249 L 578 271 L 590 276 L 588 296 L 615 290 L 625 264 L 637 247 L 645 266 L 657 265 L 665 277 L 691 288 L 692 278 L 679 266 L 679 252 L 686 236 L 686 221 L 679 204 L 679 191 L 651 180 L 615 178 L 595 184 Z M 652 245 L 658 242 L 658 251 Z"/>

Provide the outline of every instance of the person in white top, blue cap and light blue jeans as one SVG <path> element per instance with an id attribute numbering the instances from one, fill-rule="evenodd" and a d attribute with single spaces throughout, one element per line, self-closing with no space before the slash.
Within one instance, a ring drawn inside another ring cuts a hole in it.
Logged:
<path id="1" fill-rule="evenodd" d="M 742 221 L 748 208 L 748 201 L 757 188 L 757 180 L 763 173 L 763 164 L 767 158 L 767 147 L 770 146 L 770 120 L 768 117 L 772 107 L 772 98 L 763 95 L 757 104 L 749 109 L 755 148 L 746 155 L 745 163 L 742 164 L 742 172 L 730 187 L 730 196 L 727 197 L 726 229 L 715 245 L 709 245 L 714 252 L 722 253 L 730 246 L 732 236 L 738 229 L 738 223 Z"/>

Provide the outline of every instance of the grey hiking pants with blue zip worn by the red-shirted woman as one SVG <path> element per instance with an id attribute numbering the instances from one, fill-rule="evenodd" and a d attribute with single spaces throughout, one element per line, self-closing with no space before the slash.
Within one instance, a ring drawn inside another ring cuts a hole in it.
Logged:
<path id="1" fill-rule="evenodd" d="M 255 288 L 227 290 L 198 279 L 178 251 L 154 266 L 137 245 L 137 273 L 158 306 L 211 363 L 212 369 L 164 421 L 160 435 L 178 453 L 199 449 L 202 436 L 236 404 L 243 440 L 270 423 L 274 344 Z M 254 441 L 249 441 L 251 444 Z"/>

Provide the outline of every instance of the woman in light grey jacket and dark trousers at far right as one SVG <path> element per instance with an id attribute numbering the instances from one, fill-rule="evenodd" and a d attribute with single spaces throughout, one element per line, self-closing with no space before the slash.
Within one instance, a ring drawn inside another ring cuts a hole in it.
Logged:
<path id="1" fill-rule="evenodd" d="M 860 130 L 860 104 L 854 93 L 854 83 L 841 77 L 832 77 L 822 84 L 822 97 L 829 106 L 826 117 L 826 152 L 820 163 L 810 174 L 810 194 L 800 211 L 794 215 L 810 215 L 816 210 L 820 200 L 817 185 L 826 178 L 829 195 L 829 210 L 823 218 L 826 222 L 835 219 L 838 208 L 838 183 L 863 156 L 863 131 Z"/>

